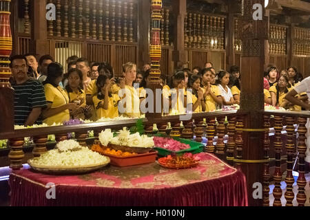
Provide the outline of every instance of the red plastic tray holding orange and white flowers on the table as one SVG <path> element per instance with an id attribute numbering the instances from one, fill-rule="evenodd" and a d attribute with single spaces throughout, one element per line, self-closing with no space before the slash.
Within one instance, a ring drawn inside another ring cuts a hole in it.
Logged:
<path id="1" fill-rule="evenodd" d="M 103 153 L 103 155 L 110 157 L 111 160 L 110 164 L 114 166 L 134 166 L 139 164 L 149 164 L 155 162 L 157 157 L 157 151 L 131 155 L 128 157 L 117 157 L 115 155 L 110 155 L 106 153 Z"/>

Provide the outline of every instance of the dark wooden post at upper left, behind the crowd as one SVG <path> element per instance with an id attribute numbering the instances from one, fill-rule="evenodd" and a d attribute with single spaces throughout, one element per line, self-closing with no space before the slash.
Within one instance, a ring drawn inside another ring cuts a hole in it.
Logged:
<path id="1" fill-rule="evenodd" d="M 46 4 L 47 0 L 32 1 L 32 39 L 30 52 L 34 54 L 49 54 L 48 29 L 46 22 Z"/>

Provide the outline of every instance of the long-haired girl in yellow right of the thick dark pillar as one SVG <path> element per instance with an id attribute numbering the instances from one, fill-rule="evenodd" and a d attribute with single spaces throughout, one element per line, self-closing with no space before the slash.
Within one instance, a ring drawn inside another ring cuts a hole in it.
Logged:
<path id="1" fill-rule="evenodd" d="M 289 102 L 285 100 L 286 94 L 289 92 L 287 86 L 289 85 L 289 80 L 286 76 L 281 76 L 279 78 L 278 84 L 270 87 L 269 91 L 271 94 L 271 104 L 276 107 L 288 108 Z"/>

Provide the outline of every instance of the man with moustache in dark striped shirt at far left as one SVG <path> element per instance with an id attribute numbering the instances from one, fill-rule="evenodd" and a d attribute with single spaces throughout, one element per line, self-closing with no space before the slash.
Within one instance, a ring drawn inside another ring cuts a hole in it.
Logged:
<path id="1" fill-rule="evenodd" d="M 12 87 L 15 124 L 24 126 L 40 124 L 41 111 L 46 107 L 43 85 L 28 77 L 28 62 L 25 56 L 12 56 L 10 61 L 14 79 Z"/>

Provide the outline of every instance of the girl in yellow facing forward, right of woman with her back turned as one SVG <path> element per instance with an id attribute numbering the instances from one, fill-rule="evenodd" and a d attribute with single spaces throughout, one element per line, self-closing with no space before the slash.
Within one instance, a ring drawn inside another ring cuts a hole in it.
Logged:
<path id="1" fill-rule="evenodd" d="M 83 88 L 83 74 L 79 69 L 70 69 L 68 72 L 68 85 L 65 87 L 69 102 L 75 102 L 79 105 L 76 111 L 72 111 L 72 118 L 85 120 L 84 108 L 86 107 L 86 95 Z"/>

